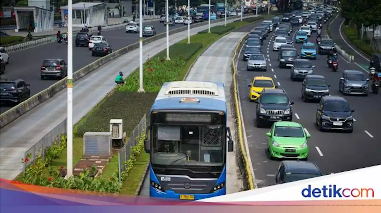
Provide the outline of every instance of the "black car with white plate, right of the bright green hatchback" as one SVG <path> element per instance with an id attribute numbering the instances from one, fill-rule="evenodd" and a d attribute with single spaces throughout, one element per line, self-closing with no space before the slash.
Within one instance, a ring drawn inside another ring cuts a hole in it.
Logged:
<path id="1" fill-rule="evenodd" d="M 316 110 L 316 125 L 320 131 L 343 130 L 352 133 L 354 111 L 343 97 L 323 96 Z"/>

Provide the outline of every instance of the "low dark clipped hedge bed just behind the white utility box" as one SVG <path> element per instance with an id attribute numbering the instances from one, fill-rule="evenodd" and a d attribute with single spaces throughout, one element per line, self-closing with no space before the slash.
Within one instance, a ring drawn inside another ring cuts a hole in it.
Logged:
<path id="1" fill-rule="evenodd" d="M 123 130 L 130 134 L 144 113 L 149 114 L 156 96 L 149 92 L 114 92 L 75 125 L 75 136 L 83 137 L 88 131 L 108 132 L 110 119 L 123 119 Z"/>

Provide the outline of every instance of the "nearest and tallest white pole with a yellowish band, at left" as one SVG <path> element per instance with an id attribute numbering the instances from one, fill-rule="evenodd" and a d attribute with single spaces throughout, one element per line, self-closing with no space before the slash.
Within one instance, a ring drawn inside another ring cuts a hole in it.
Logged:
<path id="1" fill-rule="evenodd" d="M 67 152 L 66 177 L 73 176 L 73 1 L 67 1 Z"/>

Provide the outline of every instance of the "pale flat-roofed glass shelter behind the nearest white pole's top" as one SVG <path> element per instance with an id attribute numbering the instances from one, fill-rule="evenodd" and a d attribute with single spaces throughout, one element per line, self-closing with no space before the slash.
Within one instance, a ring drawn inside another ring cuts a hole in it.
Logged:
<path id="1" fill-rule="evenodd" d="M 73 27 L 95 27 L 107 24 L 106 3 L 80 2 L 73 4 Z M 61 6 L 62 22 L 67 25 L 67 6 Z"/>

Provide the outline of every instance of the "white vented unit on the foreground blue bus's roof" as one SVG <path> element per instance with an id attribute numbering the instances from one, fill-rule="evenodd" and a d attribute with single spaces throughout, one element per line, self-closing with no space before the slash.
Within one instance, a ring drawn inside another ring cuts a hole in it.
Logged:
<path id="1" fill-rule="evenodd" d="M 213 82 L 175 81 L 166 86 L 165 95 L 218 96 L 218 86 Z"/>

